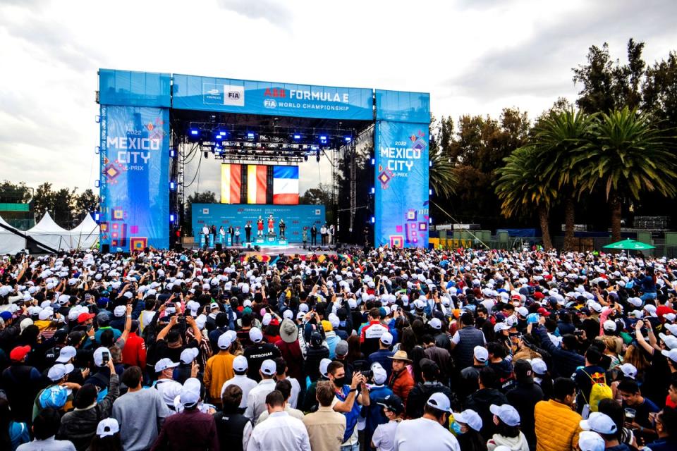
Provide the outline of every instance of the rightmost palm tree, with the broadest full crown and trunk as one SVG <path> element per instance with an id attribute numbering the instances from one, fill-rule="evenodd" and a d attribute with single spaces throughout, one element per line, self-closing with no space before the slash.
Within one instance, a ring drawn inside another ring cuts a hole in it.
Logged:
<path id="1" fill-rule="evenodd" d="M 611 238 L 621 239 L 621 202 L 642 192 L 677 194 L 677 163 L 665 135 L 645 113 L 626 106 L 602 114 L 593 126 L 591 145 L 579 156 L 583 171 L 575 184 L 592 191 L 603 186 L 611 206 Z"/>

